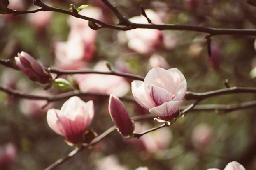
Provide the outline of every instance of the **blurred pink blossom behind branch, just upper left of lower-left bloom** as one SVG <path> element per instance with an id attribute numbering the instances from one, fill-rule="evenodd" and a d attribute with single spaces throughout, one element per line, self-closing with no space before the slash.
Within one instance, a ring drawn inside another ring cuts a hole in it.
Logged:
<path id="1" fill-rule="evenodd" d="M 33 95 L 49 95 L 47 91 L 42 90 L 34 90 L 31 92 Z M 47 104 L 46 100 L 21 100 L 20 106 L 21 111 L 28 117 L 38 117 L 44 113 L 47 113 L 47 110 L 53 107 L 53 103 L 49 103 L 47 107 L 42 108 L 45 104 Z"/>

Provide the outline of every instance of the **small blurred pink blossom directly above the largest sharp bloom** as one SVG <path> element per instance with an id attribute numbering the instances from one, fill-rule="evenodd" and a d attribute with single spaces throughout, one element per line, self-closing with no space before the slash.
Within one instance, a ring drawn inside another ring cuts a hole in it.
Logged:
<path id="1" fill-rule="evenodd" d="M 165 60 L 165 58 L 163 58 L 162 56 L 160 56 L 158 54 L 151 55 L 151 57 L 149 59 L 149 66 L 150 66 L 150 68 L 154 68 L 154 67 L 161 67 L 164 69 L 170 68 L 169 63 Z"/>

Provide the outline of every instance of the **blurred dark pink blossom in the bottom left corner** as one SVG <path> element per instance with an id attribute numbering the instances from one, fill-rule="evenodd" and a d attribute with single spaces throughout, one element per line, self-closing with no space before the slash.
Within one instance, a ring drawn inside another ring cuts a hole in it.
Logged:
<path id="1" fill-rule="evenodd" d="M 12 143 L 8 143 L 0 147 L 0 169 L 11 169 L 16 158 L 16 147 Z"/>

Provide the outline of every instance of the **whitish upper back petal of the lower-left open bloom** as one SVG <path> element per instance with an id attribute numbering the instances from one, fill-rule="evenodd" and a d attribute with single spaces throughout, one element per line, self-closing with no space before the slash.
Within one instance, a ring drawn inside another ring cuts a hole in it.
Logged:
<path id="1" fill-rule="evenodd" d="M 79 97 L 70 97 L 61 107 L 63 114 L 67 115 L 71 112 L 76 111 L 80 107 L 86 107 L 86 102 L 81 100 Z"/>

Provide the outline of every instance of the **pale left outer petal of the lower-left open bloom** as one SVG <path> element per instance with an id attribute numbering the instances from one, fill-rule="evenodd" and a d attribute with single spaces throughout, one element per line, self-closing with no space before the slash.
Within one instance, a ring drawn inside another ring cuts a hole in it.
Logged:
<path id="1" fill-rule="evenodd" d="M 59 129 L 58 129 L 58 126 L 56 124 L 58 118 L 57 118 L 57 115 L 61 115 L 61 111 L 60 110 L 57 110 L 57 109 L 49 109 L 47 111 L 47 116 L 46 116 L 46 119 L 47 119 L 47 123 L 49 125 L 49 127 L 57 134 L 59 135 L 62 135 L 64 136 L 64 133 L 61 132 Z"/>

